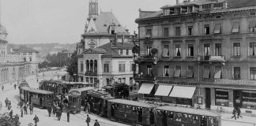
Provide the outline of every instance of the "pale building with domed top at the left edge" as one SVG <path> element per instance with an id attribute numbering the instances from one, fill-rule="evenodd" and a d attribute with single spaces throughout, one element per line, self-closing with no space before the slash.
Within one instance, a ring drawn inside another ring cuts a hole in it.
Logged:
<path id="1" fill-rule="evenodd" d="M 7 51 L 7 31 L 0 24 L 0 83 L 24 80 L 29 75 L 30 64 L 21 60 L 19 53 Z"/>

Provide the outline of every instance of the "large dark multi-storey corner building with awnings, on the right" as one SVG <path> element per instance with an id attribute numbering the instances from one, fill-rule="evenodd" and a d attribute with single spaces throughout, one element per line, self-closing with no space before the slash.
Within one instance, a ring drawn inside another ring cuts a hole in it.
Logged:
<path id="1" fill-rule="evenodd" d="M 140 10 L 135 22 L 139 93 L 179 106 L 256 113 L 256 6 L 177 0 L 157 12 Z"/>

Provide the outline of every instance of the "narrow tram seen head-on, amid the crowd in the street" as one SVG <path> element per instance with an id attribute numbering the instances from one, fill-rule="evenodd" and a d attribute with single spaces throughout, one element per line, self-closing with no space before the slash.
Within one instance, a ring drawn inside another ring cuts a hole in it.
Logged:
<path id="1" fill-rule="evenodd" d="M 81 112 L 81 93 L 78 88 L 71 88 L 69 93 L 69 109 L 70 113 Z"/>

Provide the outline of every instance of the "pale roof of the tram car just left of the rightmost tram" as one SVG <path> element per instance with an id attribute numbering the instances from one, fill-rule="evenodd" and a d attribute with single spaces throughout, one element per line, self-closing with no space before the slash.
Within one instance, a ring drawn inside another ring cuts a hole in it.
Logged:
<path id="1" fill-rule="evenodd" d="M 138 106 L 138 107 L 145 107 L 145 108 L 154 108 L 156 106 L 153 106 L 151 104 L 145 103 L 145 102 L 137 102 L 137 101 L 131 101 L 126 99 L 112 99 L 109 100 L 109 102 L 115 102 L 123 105 L 129 105 L 129 106 Z"/>

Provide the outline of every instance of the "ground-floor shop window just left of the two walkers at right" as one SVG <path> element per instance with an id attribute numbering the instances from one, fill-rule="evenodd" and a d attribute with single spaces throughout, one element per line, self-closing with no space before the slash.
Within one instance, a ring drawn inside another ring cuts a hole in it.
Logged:
<path id="1" fill-rule="evenodd" d="M 215 104 L 216 106 L 228 106 L 228 90 L 215 89 Z"/>

